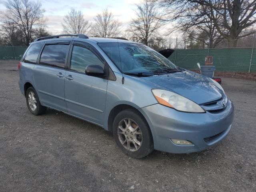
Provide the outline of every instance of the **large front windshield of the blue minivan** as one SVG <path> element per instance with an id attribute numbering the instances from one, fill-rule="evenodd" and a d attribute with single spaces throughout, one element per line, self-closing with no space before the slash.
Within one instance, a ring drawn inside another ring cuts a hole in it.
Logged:
<path id="1" fill-rule="evenodd" d="M 136 43 L 98 43 L 100 48 L 123 73 L 159 74 L 179 70 L 155 50 Z"/>

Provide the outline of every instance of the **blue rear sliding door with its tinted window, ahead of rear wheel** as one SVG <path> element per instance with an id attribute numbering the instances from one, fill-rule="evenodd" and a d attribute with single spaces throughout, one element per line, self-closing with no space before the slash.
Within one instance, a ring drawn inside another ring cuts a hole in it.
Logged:
<path id="1" fill-rule="evenodd" d="M 44 105 L 66 112 L 64 76 L 70 42 L 46 42 L 38 65 L 34 68 L 34 81 Z"/>

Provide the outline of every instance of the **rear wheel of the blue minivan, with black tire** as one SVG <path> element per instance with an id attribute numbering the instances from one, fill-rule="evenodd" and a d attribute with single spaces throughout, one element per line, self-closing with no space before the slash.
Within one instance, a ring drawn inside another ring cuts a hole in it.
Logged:
<path id="1" fill-rule="evenodd" d="M 29 87 L 26 91 L 26 102 L 28 110 L 33 115 L 41 115 L 46 112 L 47 108 L 41 105 L 36 90 L 33 87 Z"/>

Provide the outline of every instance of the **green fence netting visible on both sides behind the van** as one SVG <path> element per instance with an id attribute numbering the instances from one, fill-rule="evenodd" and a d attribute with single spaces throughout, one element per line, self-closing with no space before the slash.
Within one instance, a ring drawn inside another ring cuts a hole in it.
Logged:
<path id="1" fill-rule="evenodd" d="M 20 60 L 26 47 L 0 46 L 0 60 Z M 176 65 L 189 70 L 198 70 L 197 64 L 204 65 L 208 49 L 178 49 L 168 58 Z M 222 48 L 210 49 L 213 64 L 218 71 L 256 72 L 256 48 Z M 176 59 L 175 59 L 176 57 Z M 252 59 L 252 61 L 251 61 Z"/>

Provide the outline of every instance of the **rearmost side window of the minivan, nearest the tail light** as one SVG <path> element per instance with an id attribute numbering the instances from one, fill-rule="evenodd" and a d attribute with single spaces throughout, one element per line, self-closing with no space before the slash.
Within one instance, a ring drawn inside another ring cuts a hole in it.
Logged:
<path id="1" fill-rule="evenodd" d="M 32 44 L 28 48 L 28 51 L 26 52 L 26 55 L 24 56 L 23 61 L 27 62 L 27 63 L 35 64 L 43 44 L 44 44 L 44 42 Z"/>

